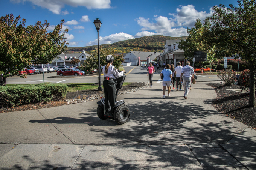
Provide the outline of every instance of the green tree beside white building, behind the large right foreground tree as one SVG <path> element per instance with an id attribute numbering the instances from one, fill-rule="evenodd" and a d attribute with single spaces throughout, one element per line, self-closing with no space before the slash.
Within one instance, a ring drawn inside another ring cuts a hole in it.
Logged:
<path id="1" fill-rule="evenodd" d="M 203 43 L 203 32 L 204 27 L 201 24 L 201 20 L 198 18 L 195 27 L 192 27 L 191 29 L 187 28 L 189 36 L 186 40 L 181 39 L 181 41 L 178 42 L 178 48 L 184 50 L 185 59 L 192 59 L 195 51 L 203 51 L 204 53 L 207 53 L 207 63 L 213 64 L 217 60 L 214 53 L 215 47 L 209 47 Z M 200 67 L 204 63 L 206 62 L 200 62 Z"/>

